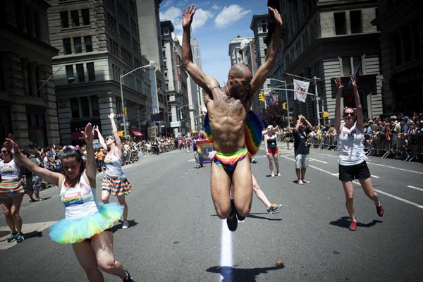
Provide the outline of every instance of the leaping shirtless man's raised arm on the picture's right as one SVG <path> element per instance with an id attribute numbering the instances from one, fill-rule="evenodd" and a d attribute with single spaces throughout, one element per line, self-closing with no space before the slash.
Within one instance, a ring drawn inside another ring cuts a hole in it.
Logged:
<path id="1" fill-rule="evenodd" d="M 252 94 L 259 91 L 260 87 L 266 81 L 266 78 L 269 76 L 271 68 L 274 67 L 276 61 L 276 55 L 278 54 L 279 44 L 281 43 L 281 27 L 282 27 L 282 18 L 276 8 L 269 7 L 273 18 L 275 21 L 275 29 L 273 36 L 271 37 L 271 42 L 269 45 L 269 50 L 267 51 L 266 61 L 259 67 L 257 73 L 255 73 L 254 78 L 251 81 L 251 90 Z"/>

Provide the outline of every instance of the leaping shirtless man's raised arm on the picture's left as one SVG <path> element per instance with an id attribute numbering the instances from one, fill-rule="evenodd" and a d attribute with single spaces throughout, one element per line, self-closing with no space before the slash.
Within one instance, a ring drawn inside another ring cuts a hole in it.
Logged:
<path id="1" fill-rule="evenodd" d="M 192 61 L 192 51 L 191 51 L 191 23 L 192 18 L 195 14 L 195 6 L 192 4 L 191 6 L 187 7 L 187 10 L 185 12 L 185 9 L 182 11 L 182 27 L 183 27 L 183 37 L 182 37 L 182 64 L 185 70 L 190 74 L 191 78 L 208 92 L 210 89 L 210 85 L 207 82 L 207 75 L 205 75 L 202 71 L 202 69 L 197 66 Z"/>

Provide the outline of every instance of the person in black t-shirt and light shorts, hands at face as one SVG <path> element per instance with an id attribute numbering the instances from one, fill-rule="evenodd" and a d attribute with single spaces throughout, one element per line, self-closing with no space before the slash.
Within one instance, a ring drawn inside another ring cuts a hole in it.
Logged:
<path id="1" fill-rule="evenodd" d="M 305 171 L 309 165 L 310 142 L 308 136 L 312 128 L 312 124 L 307 121 L 307 118 L 300 114 L 293 130 L 295 137 L 295 174 L 297 175 L 297 183 L 300 185 L 310 183 L 309 180 L 305 179 Z"/>

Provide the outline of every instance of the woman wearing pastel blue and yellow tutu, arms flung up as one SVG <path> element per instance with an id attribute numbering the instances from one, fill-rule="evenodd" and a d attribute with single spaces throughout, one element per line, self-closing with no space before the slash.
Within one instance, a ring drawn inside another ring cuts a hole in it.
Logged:
<path id="1" fill-rule="evenodd" d="M 85 126 L 87 161 L 82 160 L 79 147 L 65 146 L 61 151 L 63 173 L 40 168 L 20 153 L 19 145 L 10 135 L 5 147 L 23 166 L 47 182 L 56 185 L 65 206 L 65 218 L 50 227 L 51 240 L 72 244 L 78 262 L 90 281 L 104 281 L 102 271 L 133 281 L 128 271 L 114 259 L 113 233 L 110 228 L 121 218 L 123 207 L 116 203 L 97 204 L 95 196 L 96 165 L 94 158 L 94 130 L 91 123 Z M 100 269 L 102 271 L 100 271 Z"/>

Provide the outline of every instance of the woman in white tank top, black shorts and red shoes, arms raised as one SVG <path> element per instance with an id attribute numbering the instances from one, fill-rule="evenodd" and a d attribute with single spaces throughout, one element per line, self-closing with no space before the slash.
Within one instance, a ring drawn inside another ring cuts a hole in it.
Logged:
<path id="1" fill-rule="evenodd" d="M 335 128 L 338 134 L 338 164 L 339 164 L 339 180 L 343 185 L 345 192 L 345 206 L 350 215 L 350 231 L 357 228 L 357 220 L 354 212 L 354 186 L 353 180 L 358 179 L 364 193 L 376 205 L 376 212 L 379 216 L 384 216 L 384 208 L 379 202 L 379 197 L 373 190 L 372 178 L 369 168 L 366 164 L 366 155 L 363 151 L 363 112 L 360 102 L 360 95 L 357 90 L 357 83 L 354 77 L 351 78 L 353 85 L 353 93 L 355 99 L 355 109 L 345 107 L 343 109 L 343 121 L 341 123 L 341 97 L 343 85 L 341 78 L 335 78 L 335 84 L 338 91 L 336 92 L 335 102 Z"/>

